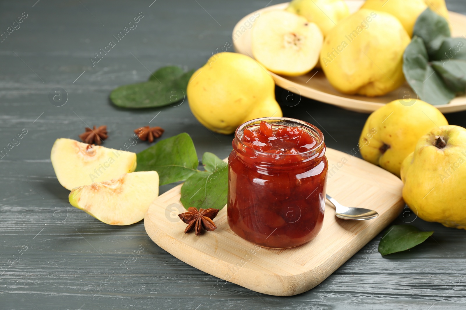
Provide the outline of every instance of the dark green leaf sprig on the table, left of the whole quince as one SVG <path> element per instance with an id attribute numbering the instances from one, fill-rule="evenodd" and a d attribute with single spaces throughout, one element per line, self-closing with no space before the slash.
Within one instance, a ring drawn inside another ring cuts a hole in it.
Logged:
<path id="1" fill-rule="evenodd" d="M 194 71 L 184 72 L 177 66 L 168 66 L 152 73 L 149 81 L 117 87 L 110 100 L 123 108 L 151 108 L 167 106 L 184 100 L 189 78 Z"/>

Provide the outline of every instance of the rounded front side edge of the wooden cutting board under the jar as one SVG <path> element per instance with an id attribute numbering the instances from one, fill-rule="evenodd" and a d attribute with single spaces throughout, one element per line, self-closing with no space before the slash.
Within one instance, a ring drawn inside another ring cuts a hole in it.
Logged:
<path id="1" fill-rule="evenodd" d="M 327 260 L 324 264 L 316 266 L 315 268 L 302 272 L 301 274 L 290 276 L 274 275 L 243 268 L 248 262 L 254 259 L 254 254 L 251 260 L 242 259 L 237 264 L 227 263 L 212 256 L 208 257 L 208 261 L 205 261 L 206 255 L 195 248 L 190 248 L 189 255 L 186 255 L 186 251 L 184 250 L 185 245 L 178 239 L 164 232 L 152 221 L 149 212 L 144 218 L 144 228 L 154 243 L 194 268 L 224 281 L 232 282 L 267 295 L 293 296 L 308 291 L 322 283 L 322 281 L 340 268 L 349 258 L 354 256 L 369 243 L 370 240 L 383 231 L 385 227 L 398 216 L 403 207 L 403 198 L 399 198 L 394 204 L 392 211 L 384 214 L 384 224 L 373 227 L 370 231 L 365 232 L 362 238 L 356 240 L 356 244 L 341 248 L 338 253 L 335 253 L 336 257 L 331 261 Z"/>

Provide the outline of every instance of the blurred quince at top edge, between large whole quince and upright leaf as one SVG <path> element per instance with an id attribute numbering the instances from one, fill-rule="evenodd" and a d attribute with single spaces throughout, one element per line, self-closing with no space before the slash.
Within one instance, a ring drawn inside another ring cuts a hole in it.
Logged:
<path id="1" fill-rule="evenodd" d="M 418 16 L 427 8 L 425 0 L 367 0 L 362 8 L 389 13 L 395 16 L 412 37 Z"/>

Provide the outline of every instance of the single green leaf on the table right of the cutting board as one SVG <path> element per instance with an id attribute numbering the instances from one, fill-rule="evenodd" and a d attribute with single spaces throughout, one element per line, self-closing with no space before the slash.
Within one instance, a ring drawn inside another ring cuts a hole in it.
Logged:
<path id="1" fill-rule="evenodd" d="M 433 231 L 420 231 L 412 225 L 393 225 L 380 240 L 378 251 L 382 255 L 406 251 L 421 244 Z"/>

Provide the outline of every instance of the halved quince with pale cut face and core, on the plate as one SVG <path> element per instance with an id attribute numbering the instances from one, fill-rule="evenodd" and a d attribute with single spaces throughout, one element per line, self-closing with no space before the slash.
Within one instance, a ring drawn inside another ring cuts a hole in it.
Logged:
<path id="1" fill-rule="evenodd" d="M 322 49 L 320 28 L 287 11 L 261 14 L 254 23 L 254 58 L 273 73 L 298 76 L 312 70 Z"/>

